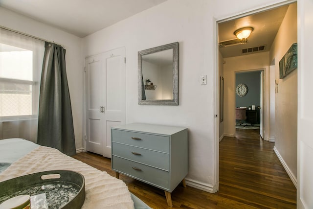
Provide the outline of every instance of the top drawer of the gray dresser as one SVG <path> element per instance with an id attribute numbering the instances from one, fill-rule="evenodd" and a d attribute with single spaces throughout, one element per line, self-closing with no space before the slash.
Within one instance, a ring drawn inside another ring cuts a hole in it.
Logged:
<path id="1" fill-rule="evenodd" d="M 169 137 L 112 129 L 112 142 L 169 153 Z"/>

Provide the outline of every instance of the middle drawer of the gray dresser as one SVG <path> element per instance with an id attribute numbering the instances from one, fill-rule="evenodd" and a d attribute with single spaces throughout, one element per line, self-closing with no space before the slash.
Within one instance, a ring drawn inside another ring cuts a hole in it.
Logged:
<path id="1" fill-rule="evenodd" d="M 163 152 L 113 142 L 112 155 L 169 171 L 169 155 Z"/>

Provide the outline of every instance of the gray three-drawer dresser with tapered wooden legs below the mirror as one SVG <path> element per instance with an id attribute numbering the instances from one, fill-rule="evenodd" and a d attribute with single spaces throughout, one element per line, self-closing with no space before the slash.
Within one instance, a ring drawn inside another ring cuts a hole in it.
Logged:
<path id="1" fill-rule="evenodd" d="M 188 173 L 187 129 L 132 123 L 112 127 L 112 170 L 171 192 Z"/>

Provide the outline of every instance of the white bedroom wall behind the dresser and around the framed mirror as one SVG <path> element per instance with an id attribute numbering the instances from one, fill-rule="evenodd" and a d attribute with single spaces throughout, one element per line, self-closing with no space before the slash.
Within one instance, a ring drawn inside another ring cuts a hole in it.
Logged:
<path id="1" fill-rule="evenodd" d="M 168 0 L 83 39 L 84 56 L 126 46 L 126 122 L 188 128 L 187 183 L 212 190 L 214 180 L 212 21 L 206 0 Z M 179 106 L 138 105 L 137 52 L 179 42 Z M 208 58 L 209 57 L 209 58 Z M 209 78 L 200 85 L 200 75 Z M 196 181 L 196 182 L 195 182 Z"/>

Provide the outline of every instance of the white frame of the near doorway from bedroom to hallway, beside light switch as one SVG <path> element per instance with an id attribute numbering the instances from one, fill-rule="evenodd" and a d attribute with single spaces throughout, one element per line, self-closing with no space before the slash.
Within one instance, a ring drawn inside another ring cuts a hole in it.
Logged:
<path id="1" fill-rule="evenodd" d="M 264 12 L 264 11 L 267 11 L 267 10 L 270 10 L 270 9 L 274 9 L 274 8 L 277 8 L 277 7 L 280 7 L 280 6 L 284 6 L 284 5 L 288 5 L 288 4 L 291 4 L 291 3 L 294 3 L 294 2 L 297 2 L 297 0 L 286 0 L 286 1 L 283 1 L 283 2 L 279 2 L 279 3 L 274 3 L 274 4 L 271 4 L 271 5 L 268 5 L 268 6 L 265 6 L 265 7 L 260 7 L 260 8 L 256 8 L 256 9 L 251 9 L 247 12 L 244 12 L 244 13 L 238 13 L 238 14 L 235 14 L 231 17 L 229 16 L 225 16 L 225 17 L 221 17 L 221 18 L 215 18 L 213 20 L 213 34 L 215 35 L 214 39 L 215 39 L 215 45 L 213 47 L 213 50 L 214 50 L 214 54 L 215 54 L 215 61 L 214 61 L 214 68 L 215 68 L 215 71 L 214 71 L 214 74 L 215 74 L 215 79 L 214 79 L 214 83 L 215 83 L 215 111 L 216 111 L 216 114 L 220 112 L 220 100 L 219 100 L 219 97 L 220 97 L 220 93 L 219 93 L 219 79 L 220 79 L 220 75 L 219 75 L 219 23 L 223 23 L 223 22 L 226 22 L 226 21 L 230 21 L 230 20 L 235 20 L 235 19 L 239 19 L 239 18 L 242 18 L 242 17 L 245 17 L 245 16 L 248 16 L 248 15 L 253 15 L 253 14 L 257 14 L 257 13 L 260 13 L 260 12 Z M 299 33 L 299 28 L 298 28 L 298 33 Z M 269 65 L 268 65 L 269 66 Z M 221 75 L 223 76 L 223 75 Z M 223 76 L 224 77 L 224 76 Z M 215 140 L 214 140 L 214 153 L 215 153 L 215 162 L 214 162 L 214 168 L 215 168 L 215 172 L 214 172 L 214 179 L 215 179 L 215 186 L 214 186 L 214 189 L 213 189 L 213 192 L 217 192 L 219 190 L 219 168 L 220 168 L 220 163 L 219 163 L 219 160 L 220 160 L 220 154 L 219 154 L 219 125 L 220 125 L 220 118 L 218 116 L 218 114 L 216 115 L 216 119 L 215 119 Z M 225 115 L 224 115 L 224 118 L 225 118 Z"/>

